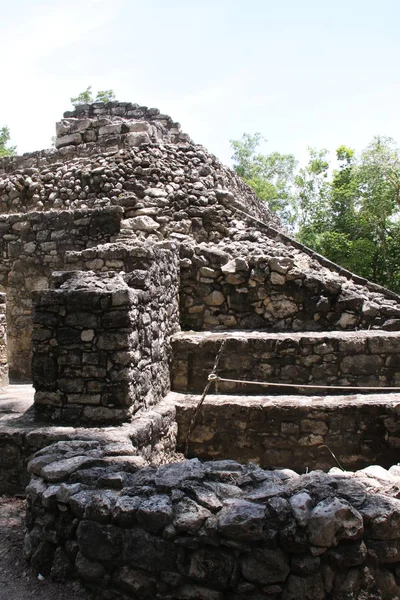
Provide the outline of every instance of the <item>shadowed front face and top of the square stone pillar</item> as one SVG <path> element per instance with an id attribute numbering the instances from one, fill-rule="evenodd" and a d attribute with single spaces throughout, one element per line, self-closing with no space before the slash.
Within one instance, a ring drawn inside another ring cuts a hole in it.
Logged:
<path id="1" fill-rule="evenodd" d="M 120 275 L 57 274 L 33 294 L 35 414 L 75 424 L 130 420 L 141 406 L 132 377 L 137 293 Z"/>

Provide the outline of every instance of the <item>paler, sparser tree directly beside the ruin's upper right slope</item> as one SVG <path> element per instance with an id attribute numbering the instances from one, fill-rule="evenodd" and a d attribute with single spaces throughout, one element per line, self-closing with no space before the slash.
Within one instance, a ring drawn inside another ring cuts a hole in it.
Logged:
<path id="1" fill-rule="evenodd" d="M 292 184 L 297 161 L 292 154 L 257 152 L 262 141 L 259 133 L 245 133 L 241 140 L 231 140 L 233 168 L 257 196 L 290 226 L 295 218 Z"/>

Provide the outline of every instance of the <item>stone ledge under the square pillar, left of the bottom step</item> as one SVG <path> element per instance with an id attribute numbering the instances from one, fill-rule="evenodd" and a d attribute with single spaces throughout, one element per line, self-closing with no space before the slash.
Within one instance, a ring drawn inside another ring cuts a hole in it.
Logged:
<path id="1" fill-rule="evenodd" d="M 101 442 L 115 460 L 129 455 L 137 467 L 162 463 L 175 452 L 175 405 L 169 398 L 122 426 L 71 427 L 36 420 L 33 395 L 31 385 L 0 388 L 0 494 L 23 493 L 27 463 L 35 452 L 57 441 Z"/>

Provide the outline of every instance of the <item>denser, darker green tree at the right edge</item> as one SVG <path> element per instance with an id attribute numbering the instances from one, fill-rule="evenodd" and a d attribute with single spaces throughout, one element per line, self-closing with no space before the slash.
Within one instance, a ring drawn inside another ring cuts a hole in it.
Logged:
<path id="1" fill-rule="evenodd" d="M 314 195 L 296 181 L 307 208 L 300 211 L 298 237 L 350 271 L 400 291 L 400 151 L 390 138 L 377 137 L 359 156 L 341 146 L 336 157 L 330 180 L 322 175 L 323 183 L 316 172 Z M 307 172 L 312 163 L 313 157 Z"/>

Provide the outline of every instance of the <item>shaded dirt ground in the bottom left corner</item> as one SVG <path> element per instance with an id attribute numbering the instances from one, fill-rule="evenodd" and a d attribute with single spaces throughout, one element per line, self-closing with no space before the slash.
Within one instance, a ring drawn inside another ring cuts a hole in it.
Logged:
<path id="1" fill-rule="evenodd" d="M 0 600 L 93 600 L 78 582 L 53 583 L 32 575 L 22 556 L 25 501 L 0 496 Z"/>

